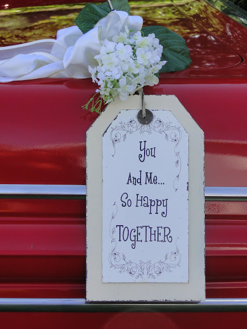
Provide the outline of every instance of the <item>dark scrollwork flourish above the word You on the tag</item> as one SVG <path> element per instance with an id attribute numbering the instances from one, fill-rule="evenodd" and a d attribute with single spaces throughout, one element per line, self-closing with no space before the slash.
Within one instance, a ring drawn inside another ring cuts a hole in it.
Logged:
<path id="1" fill-rule="evenodd" d="M 155 120 L 155 121 L 154 121 Z M 152 124 L 152 122 L 154 123 Z M 127 134 L 133 134 L 136 132 L 139 132 L 139 134 L 152 134 L 153 132 L 159 133 L 159 134 L 165 134 L 165 139 L 167 141 L 171 141 L 175 143 L 174 146 L 174 153 L 175 157 L 177 158 L 175 161 L 175 167 L 178 168 L 178 174 L 176 175 L 174 181 L 173 181 L 173 188 L 175 191 L 178 190 L 178 183 L 179 183 L 179 176 L 181 172 L 182 162 L 180 157 L 180 151 L 178 150 L 179 142 L 182 139 L 182 133 L 179 126 L 172 125 L 172 123 L 164 122 L 161 119 L 155 119 L 153 116 L 153 120 L 149 124 L 142 124 L 139 123 L 137 119 L 130 119 L 127 123 L 120 121 L 119 125 L 115 125 L 115 127 L 111 126 L 111 133 L 110 138 L 112 141 L 114 153 L 112 156 L 114 157 L 116 153 L 116 144 L 125 141 L 127 138 Z M 120 132 L 121 131 L 121 132 Z M 124 132 L 124 133 L 122 133 Z"/>

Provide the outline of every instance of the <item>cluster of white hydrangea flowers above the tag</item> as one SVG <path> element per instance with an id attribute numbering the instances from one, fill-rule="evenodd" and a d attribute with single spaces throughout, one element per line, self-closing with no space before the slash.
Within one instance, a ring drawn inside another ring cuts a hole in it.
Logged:
<path id="1" fill-rule="evenodd" d="M 100 54 L 95 56 L 98 66 L 89 66 L 93 82 L 99 85 L 96 92 L 110 103 L 117 95 L 126 100 L 143 86 L 157 84 L 156 74 L 166 63 L 161 61 L 162 51 L 154 33 L 142 36 L 141 31 L 133 34 L 127 27 L 112 41 L 105 39 Z"/>

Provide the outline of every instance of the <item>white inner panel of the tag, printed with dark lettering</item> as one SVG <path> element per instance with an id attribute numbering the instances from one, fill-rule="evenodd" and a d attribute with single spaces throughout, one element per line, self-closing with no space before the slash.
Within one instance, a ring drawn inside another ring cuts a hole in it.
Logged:
<path id="1" fill-rule="evenodd" d="M 102 282 L 188 282 L 188 134 L 122 110 L 103 136 Z"/>

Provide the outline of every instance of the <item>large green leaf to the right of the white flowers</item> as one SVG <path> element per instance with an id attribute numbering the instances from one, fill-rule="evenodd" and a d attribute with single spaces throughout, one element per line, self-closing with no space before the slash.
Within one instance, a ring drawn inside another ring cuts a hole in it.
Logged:
<path id="1" fill-rule="evenodd" d="M 142 31 L 145 36 L 154 33 L 163 46 L 161 60 L 167 63 L 159 73 L 182 71 L 192 63 L 186 41 L 179 34 L 163 26 L 147 26 Z"/>

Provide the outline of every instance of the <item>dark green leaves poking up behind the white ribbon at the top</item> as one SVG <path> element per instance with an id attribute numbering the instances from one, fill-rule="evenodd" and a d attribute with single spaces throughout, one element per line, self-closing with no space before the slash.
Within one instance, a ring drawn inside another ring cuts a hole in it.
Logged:
<path id="1" fill-rule="evenodd" d="M 112 5 L 115 10 L 126 11 L 128 14 L 130 14 L 130 6 L 128 4 L 128 0 L 112 0 Z M 109 12 L 110 8 L 107 3 L 100 5 L 87 3 L 74 20 L 74 23 L 83 33 L 86 33 L 87 31 L 94 28 L 95 24 L 107 14 L 109 14 Z"/>

